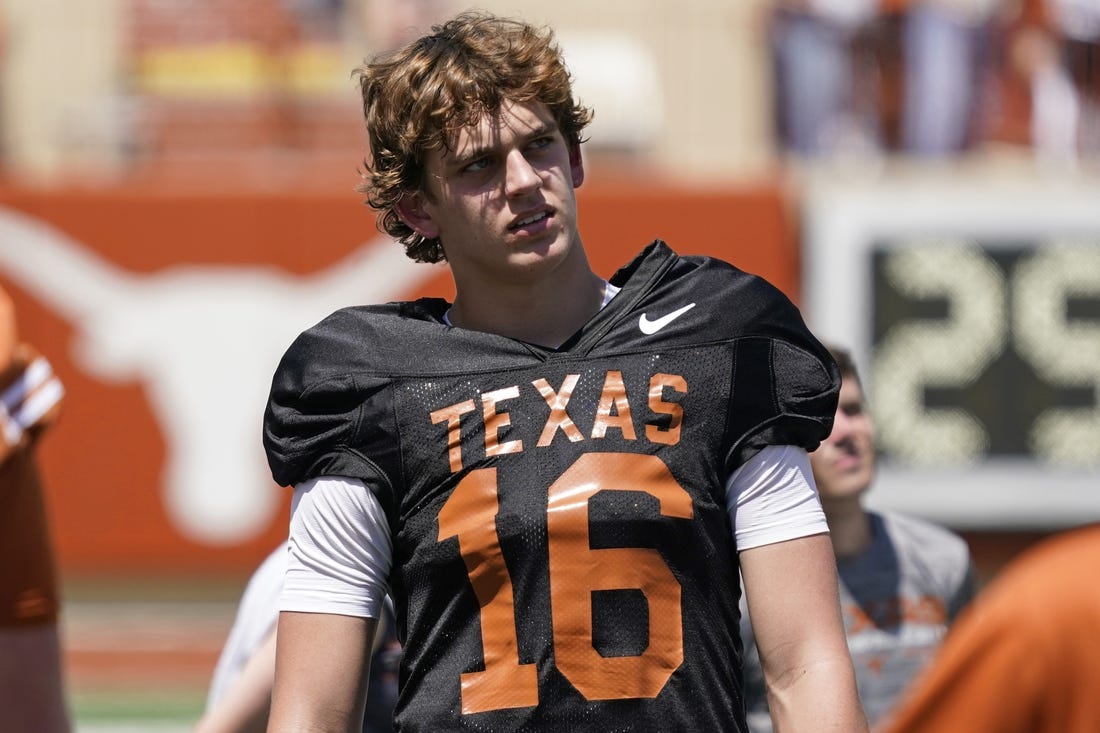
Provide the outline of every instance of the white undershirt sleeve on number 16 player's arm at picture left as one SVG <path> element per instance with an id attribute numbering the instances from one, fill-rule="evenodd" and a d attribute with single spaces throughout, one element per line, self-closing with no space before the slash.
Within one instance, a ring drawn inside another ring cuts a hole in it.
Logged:
<path id="1" fill-rule="evenodd" d="M 389 523 L 362 481 L 320 477 L 295 486 L 280 611 L 377 619 L 392 564 Z"/>

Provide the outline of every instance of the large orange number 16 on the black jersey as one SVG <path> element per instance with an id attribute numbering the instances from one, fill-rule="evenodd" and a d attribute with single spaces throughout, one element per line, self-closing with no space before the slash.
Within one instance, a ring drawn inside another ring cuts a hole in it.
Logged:
<path id="1" fill-rule="evenodd" d="M 593 549 L 588 500 L 600 491 L 641 491 L 663 516 L 690 519 L 691 495 L 657 456 L 585 453 L 549 489 L 547 537 L 554 660 L 588 700 L 653 698 L 683 663 L 681 588 L 660 553 Z M 495 530 L 495 468 L 466 474 L 439 513 L 439 540 L 459 538 L 481 605 L 484 670 L 462 675 L 463 714 L 539 703 L 538 672 L 519 660 L 512 579 Z M 638 589 L 649 603 L 649 644 L 636 656 L 604 657 L 592 644 L 592 593 Z"/>

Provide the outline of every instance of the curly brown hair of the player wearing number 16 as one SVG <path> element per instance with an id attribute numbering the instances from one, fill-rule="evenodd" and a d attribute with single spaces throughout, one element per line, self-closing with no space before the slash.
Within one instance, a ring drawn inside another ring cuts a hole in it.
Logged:
<path id="1" fill-rule="evenodd" d="M 378 225 L 418 262 L 446 259 L 397 215 L 413 192 L 430 197 L 425 161 L 448 150 L 458 130 L 501 111 L 505 101 L 547 106 L 566 143 L 582 143 L 592 111 L 573 98 L 572 77 L 553 33 L 483 12 L 464 12 L 430 35 L 355 69 L 363 95 L 370 158 L 356 190 Z"/>

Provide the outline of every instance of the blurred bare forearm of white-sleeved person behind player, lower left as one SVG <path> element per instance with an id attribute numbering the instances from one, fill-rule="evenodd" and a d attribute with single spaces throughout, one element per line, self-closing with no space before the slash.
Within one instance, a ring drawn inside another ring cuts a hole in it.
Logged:
<path id="1" fill-rule="evenodd" d="M 275 679 L 275 628 L 241 669 L 233 687 L 199 720 L 195 733 L 263 733 Z"/>

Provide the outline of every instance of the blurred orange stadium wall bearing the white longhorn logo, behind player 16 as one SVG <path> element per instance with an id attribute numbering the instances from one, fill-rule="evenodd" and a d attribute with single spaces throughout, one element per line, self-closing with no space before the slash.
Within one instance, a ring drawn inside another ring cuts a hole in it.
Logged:
<path id="1" fill-rule="evenodd" d="M 793 299 L 778 186 L 586 185 L 610 275 L 653 238 L 728 259 Z M 450 295 L 352 193 L 0 192 L 0 285 L 66 387 L 40 458 L 63 575 L 240 577 L 285 536 L 263 397 L 283 349 L 341 305 Z"/>

